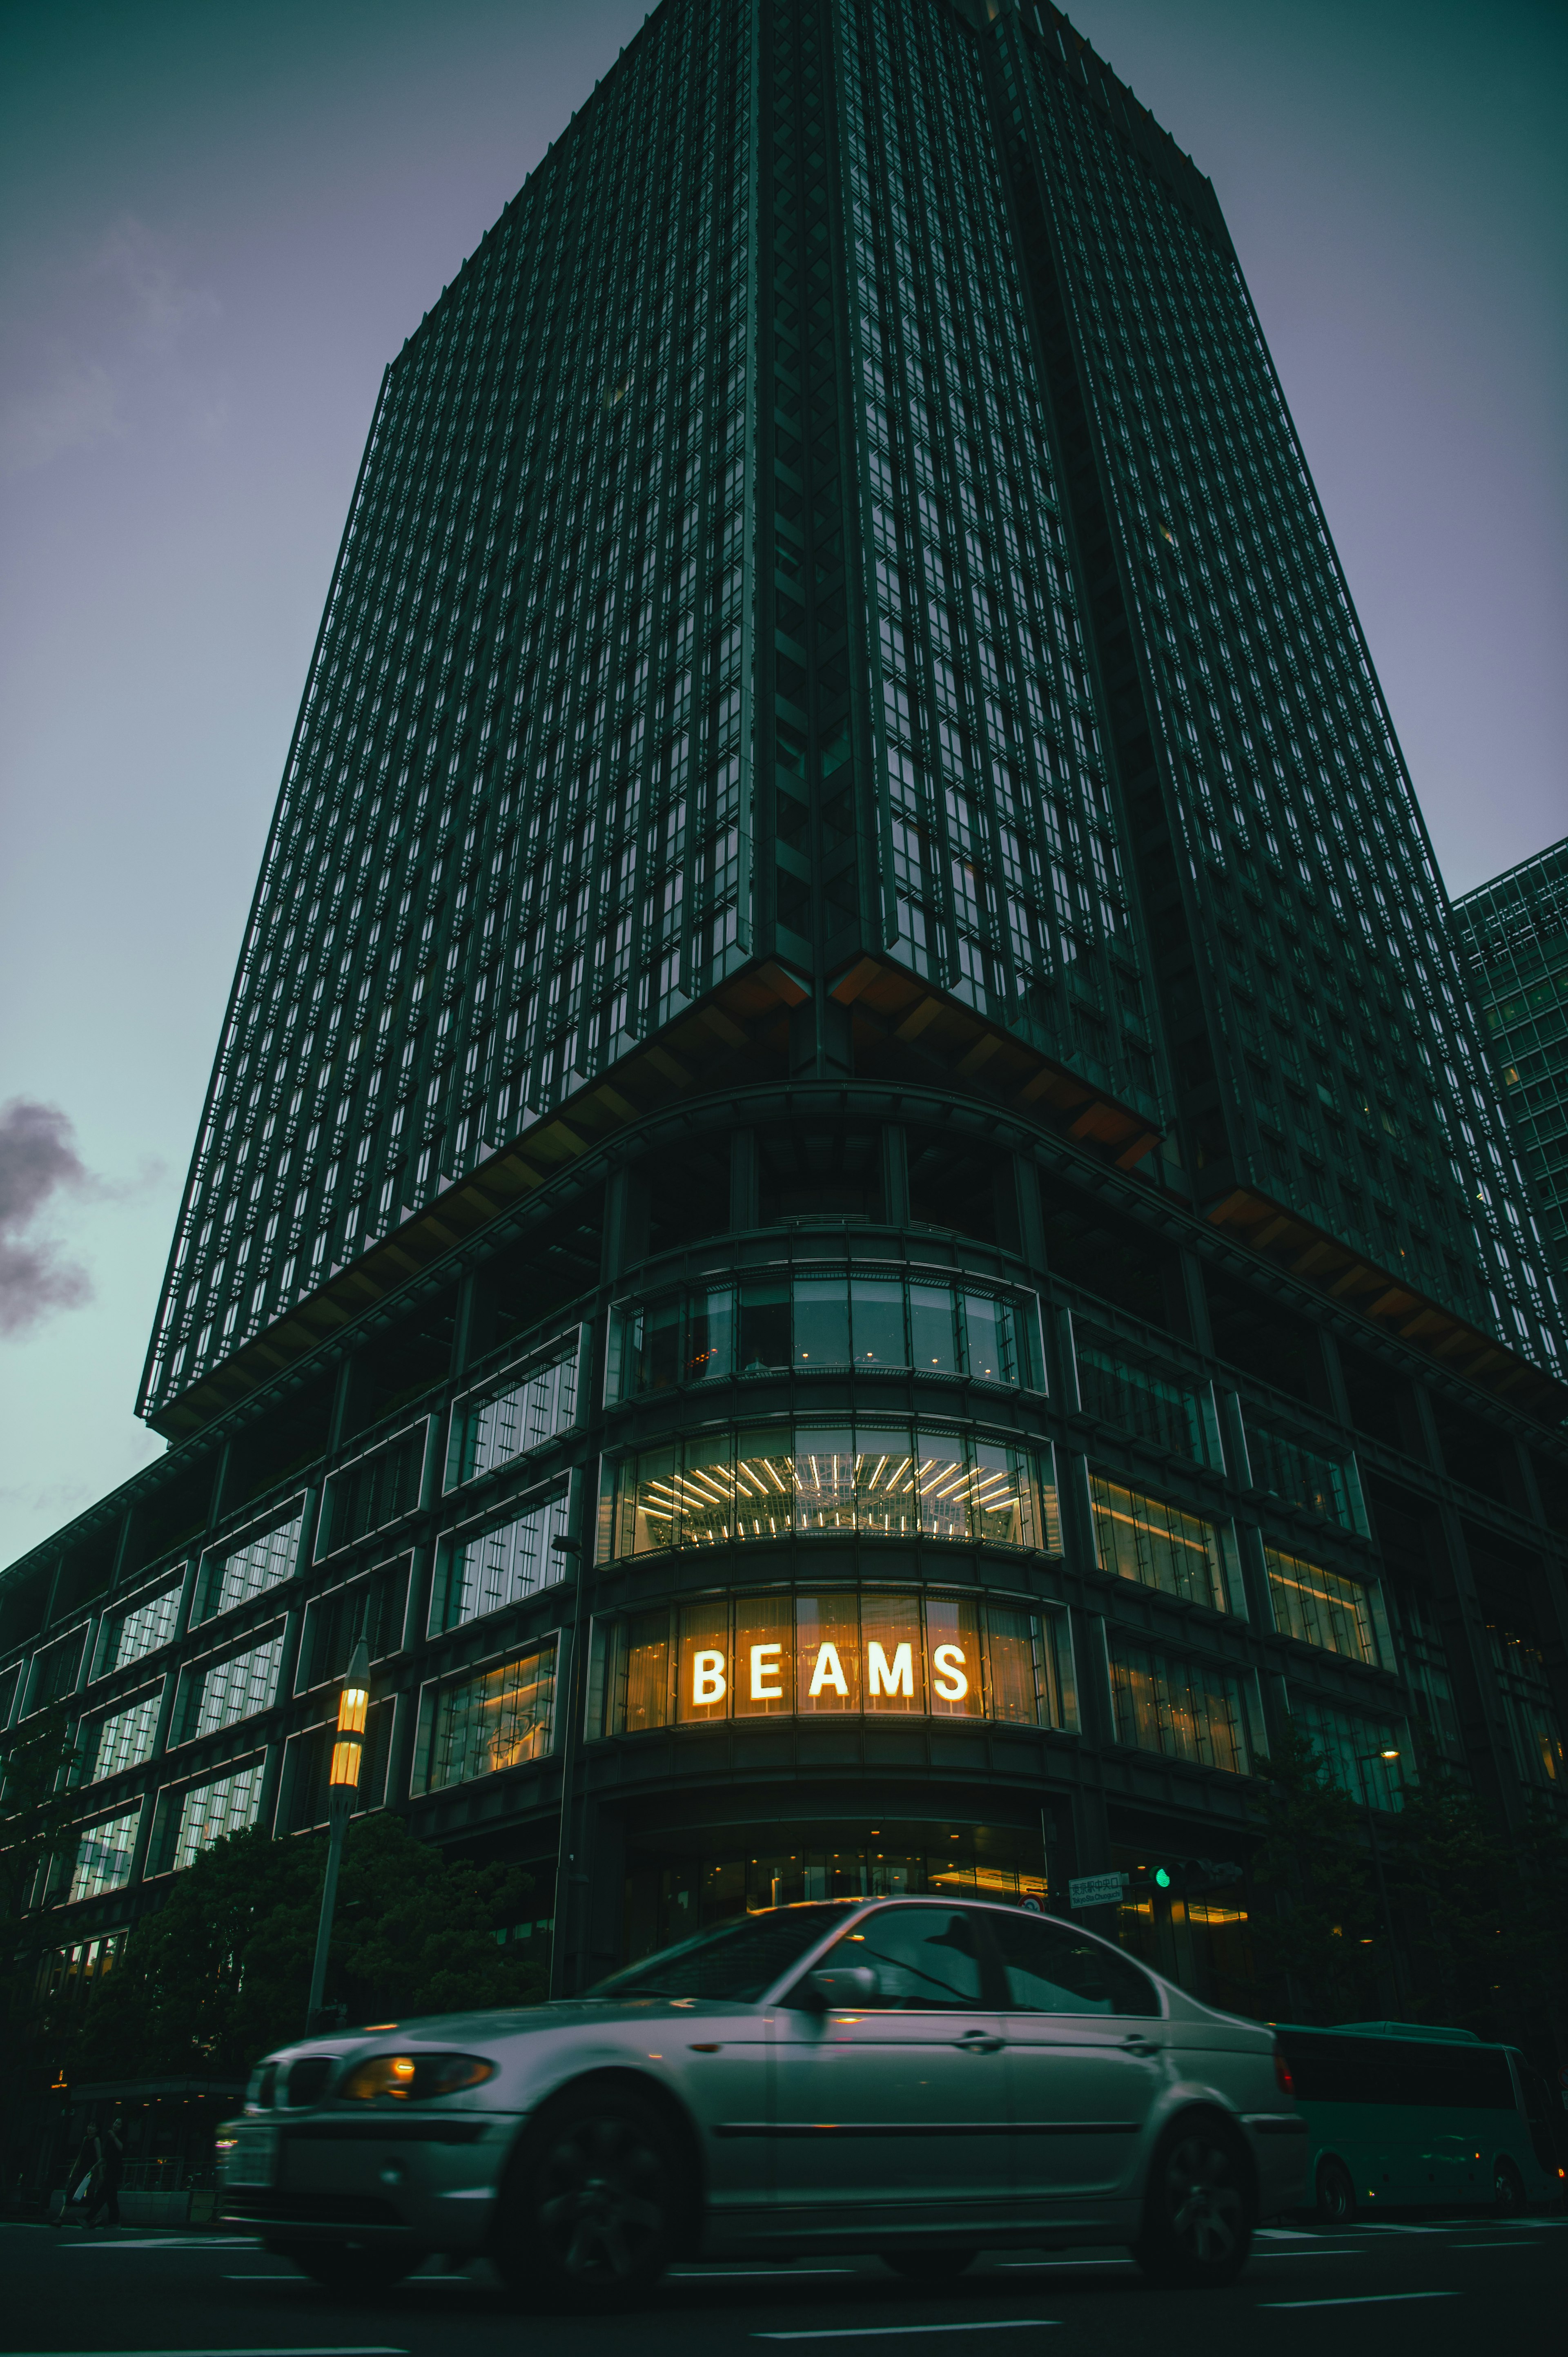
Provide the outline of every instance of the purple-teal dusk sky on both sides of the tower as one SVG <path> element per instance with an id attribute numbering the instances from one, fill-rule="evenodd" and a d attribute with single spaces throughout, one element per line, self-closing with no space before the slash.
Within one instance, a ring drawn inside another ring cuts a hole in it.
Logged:
<path id="1" fill-rule="evenodd" d="M 163 1450 L 132 1398 L 382 368 L 641 16 L 0 9 L 0 1565 Z M 1568 830 L 1568 12 L 1073 19 L 1214 181 L 1464 891 Z"/>

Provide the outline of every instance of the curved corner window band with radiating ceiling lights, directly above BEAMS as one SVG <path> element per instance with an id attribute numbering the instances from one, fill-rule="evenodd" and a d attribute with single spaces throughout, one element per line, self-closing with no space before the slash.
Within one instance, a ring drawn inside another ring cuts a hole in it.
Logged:
<path id="1" fill-rule="evenodd" d="M 1049 1442 L 882 1419 L 724 1426 L 606 1471 L 601 1560 L 804 1532 L 1061 1553 Z"/>

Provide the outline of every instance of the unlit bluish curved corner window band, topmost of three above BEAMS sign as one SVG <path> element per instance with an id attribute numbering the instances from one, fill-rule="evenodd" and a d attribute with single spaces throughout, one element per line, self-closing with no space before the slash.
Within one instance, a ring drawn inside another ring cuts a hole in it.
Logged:
<path id="1" fill-rule="evenodd" d="M 795 1270 L 622 1303 L 608 1398 L 745 1374 L 868 1367 L 1042 1391 L 1033 1294 L 903 1270 Z"/>

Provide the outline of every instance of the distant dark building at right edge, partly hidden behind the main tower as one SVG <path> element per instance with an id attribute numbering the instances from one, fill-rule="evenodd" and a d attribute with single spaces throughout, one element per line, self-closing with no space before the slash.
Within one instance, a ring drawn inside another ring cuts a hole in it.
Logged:
<path id="1" fill-rule="evenodd" d="M 1455 900 L 1471 997 L 1568 1282 L 1568 837 Z"/>

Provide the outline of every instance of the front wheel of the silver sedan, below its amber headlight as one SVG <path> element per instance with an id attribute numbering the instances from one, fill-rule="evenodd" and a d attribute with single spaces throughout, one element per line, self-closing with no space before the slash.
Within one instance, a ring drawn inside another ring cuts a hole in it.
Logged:
<path id="1" fill-rule="evenodd" d="M 689 2204 L 686 2159 L 653 2105 L 568 2088 L 516 2159 L 490 2256 L 531 2303 L 630 2308 L 670 2265 Z"/>

